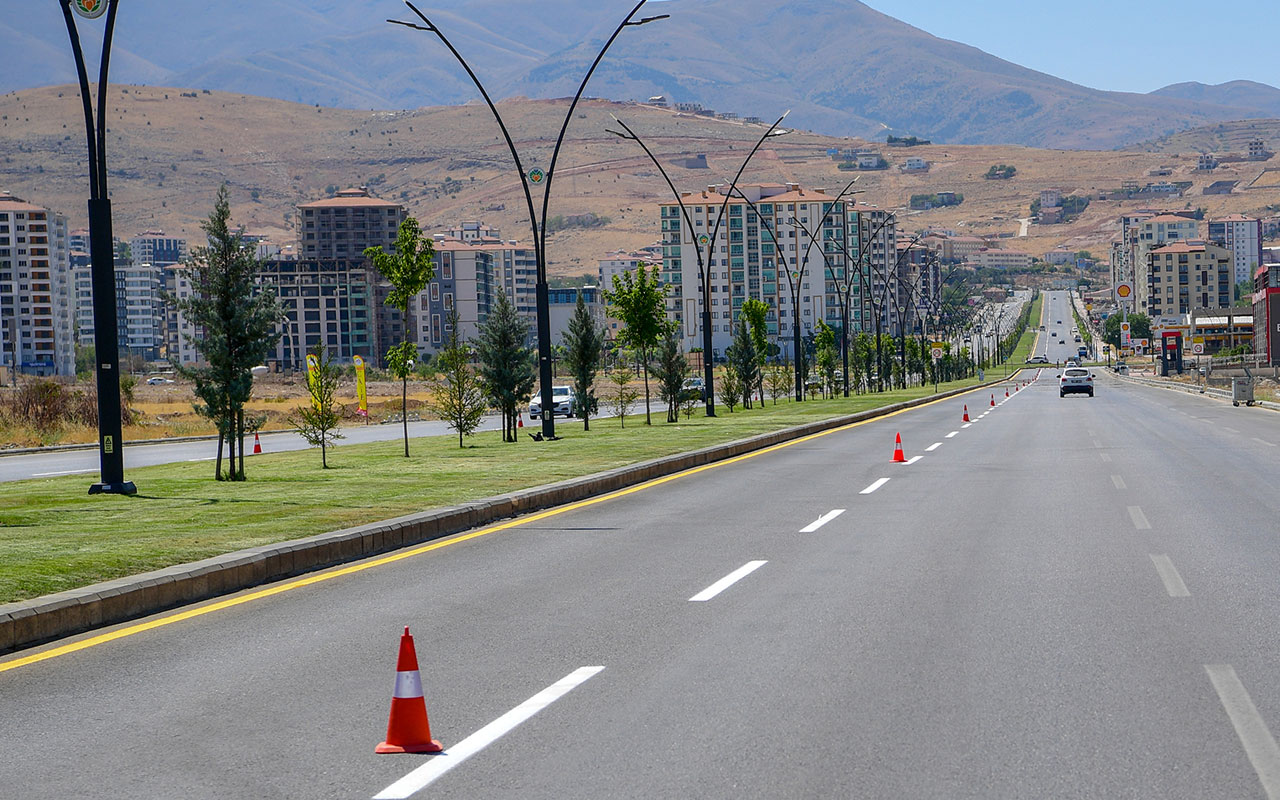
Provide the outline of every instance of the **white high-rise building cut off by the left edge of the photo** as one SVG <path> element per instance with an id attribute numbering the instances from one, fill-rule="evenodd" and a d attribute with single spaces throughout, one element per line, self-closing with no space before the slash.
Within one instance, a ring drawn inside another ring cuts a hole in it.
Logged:
<path id="1" fill-rule="evenodd" d="M 0 361 L 29 375 L 74 375 L 67 218 L 0 195 Z"/>

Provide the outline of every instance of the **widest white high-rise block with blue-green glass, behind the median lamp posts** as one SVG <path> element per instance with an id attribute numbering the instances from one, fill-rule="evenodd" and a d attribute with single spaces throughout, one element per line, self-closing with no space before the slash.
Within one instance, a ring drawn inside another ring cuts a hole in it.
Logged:
<path id="1" fill-rule="evenodd" d="M 735 192 L 727 204 L 723 193 L 727 187 L 682 193 L 692 229 L 680 204 L 660 205 L 667 311 L 680 325 L 686 351 L 703 346 L 704 302 L 712 314 L 713 357 L 719 357 L 732 340 L 742 303 L 755 298 L 769 306 L 769 335 L 783 353 L 792 356 L 791 337 L 796 328 L 809 335 L 819 320 L 840 323 L 837 287 L 845 270 L 861 275 L 854 280 L 851 297 L 854 329 L 868 324 L 872 308 L 896 323 L 892 310 L 900 292 L 896 230 L 887 212 L 850 201 L 837 204 L 824 189 L 805 189 L 797 183 L 737 189 L 745 198 Z M 716 241 L 710 242 L 722 210 L 724 218 Z M 705 243 L 700 242 L 704 237 Z M 704 298 L 698 255 L 700 250 L 705 256 L 708 246 L 710 297 Z M 863 262 L 854 264 L 860 255 Z M 794 291 L 792 284 L 797 284 Z"/>

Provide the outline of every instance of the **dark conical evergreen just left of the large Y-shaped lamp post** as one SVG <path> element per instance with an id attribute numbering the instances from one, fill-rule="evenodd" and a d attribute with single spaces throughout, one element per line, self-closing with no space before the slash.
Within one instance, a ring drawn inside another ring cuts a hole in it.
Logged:
<path id="1" fill-rule="evenodd" d="M 529 323 L 516 314 L 516 306 L 500 289 L 489 317 L 480 326 L 475 348 L 485 394 L 502 412 L 502 440 L 515 442 L 516 416 L 534 393 L 538 362 L 534 348 L 529 347 Z M 544 408 L 543 413 L 552 413 L 552 410 Z"/>

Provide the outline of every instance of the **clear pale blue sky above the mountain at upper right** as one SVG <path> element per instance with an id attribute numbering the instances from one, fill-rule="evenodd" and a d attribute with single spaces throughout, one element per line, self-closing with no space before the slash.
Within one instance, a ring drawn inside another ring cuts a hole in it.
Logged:
<path id="1" fill-rule="evenodd" d="M 1280 87 L 1276 0 L 863 3 L 941 38 L 1091 88 L 1149 92 L 1184 81 Z M 1197 54 L 1178 52 L 1190 44 Z"/>

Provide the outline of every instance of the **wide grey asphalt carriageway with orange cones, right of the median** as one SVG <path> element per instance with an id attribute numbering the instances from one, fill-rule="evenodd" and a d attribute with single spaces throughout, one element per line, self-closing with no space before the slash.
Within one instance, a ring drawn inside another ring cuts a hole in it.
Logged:
<path id="1" fill-rule="evenodd" d="M 1053 372 L 0 659 L 0 786 L 1280 797 L 1280 416 Z M 374 755 L 406 625 L 443 756 Z"/>

